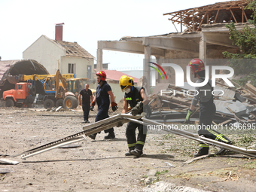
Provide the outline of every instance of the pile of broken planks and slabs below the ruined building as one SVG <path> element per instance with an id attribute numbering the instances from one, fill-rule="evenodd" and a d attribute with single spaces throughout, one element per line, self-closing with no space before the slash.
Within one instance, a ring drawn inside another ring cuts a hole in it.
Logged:
<path id="1" fill-rule="evenodd" d="M 230 80 L 231 81 L 231 80 Z M 216 113 L 213 123 L 256 122 L 256 87 L 250 82 L 241 87 L 231 81 L 237 88 L 216 82 L 213 92 Z M 194 96 L 194 87 L 185 83 L 184 87 L 174 84 L 160 84 L 149 96 L 151 119 L 161 123 L 184 123 L 187 109 Z M 160 90 L 161 89 L 161 90 Z M 198 107 L 198 106 L 197 106 Z M 190 123 L 198 123 L 199 110 L 195 111 Z"/>

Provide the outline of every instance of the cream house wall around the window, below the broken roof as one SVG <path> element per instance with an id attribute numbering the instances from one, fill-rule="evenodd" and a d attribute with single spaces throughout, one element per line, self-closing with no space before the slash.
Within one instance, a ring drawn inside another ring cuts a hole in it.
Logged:
<path id="1" fill-rule="evenodd" d="M 93 59 L 84 59 L 80 57 L 68 57 L 62 56 L 60 71 L 62 74 L 69 72 L 69 63 L 75 64 L 75 74 L 77 78 L 88 78 L 87 77 L 87 66 L 91 69 L 91 78 L 93 77 Z"/>

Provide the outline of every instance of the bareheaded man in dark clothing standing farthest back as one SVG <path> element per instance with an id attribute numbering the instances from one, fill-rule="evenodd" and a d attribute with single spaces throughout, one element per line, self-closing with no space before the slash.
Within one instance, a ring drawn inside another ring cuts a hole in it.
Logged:
<path id="1" fill-rule="evenodd" d="M 84 111 L 84 122 L 90 123 L 88 120 L 89 111 L 90 111 L 90 100 L 93 101 L 93 93 L 89 89 L 89 84 L 84 85 L 84 89 L 80 91 L 78 95 L 78 103 L 81 105 L 81 96 L 82 96 L 82 108 Z"/>

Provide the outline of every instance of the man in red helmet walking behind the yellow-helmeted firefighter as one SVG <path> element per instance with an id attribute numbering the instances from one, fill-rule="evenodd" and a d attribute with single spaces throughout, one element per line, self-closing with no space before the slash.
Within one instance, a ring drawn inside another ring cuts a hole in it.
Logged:
<path id="1" fill-rule="evenodd" d="M 90 110 L 93 111 L 93 108 L 97 102 L 98 105 L 98 114 L 96 115 L 95 122 L 108 118 L 108 109 L 110 105 L 109 96 L 111 99 L 111 107 L 113 111 L 117 110 L 117 103 L 114 102 L 114 94 L 111 90 L 110 85 L 105 81 L 107 75 L 103 71 L 96 72 L 97 83 L 99 84 L 96 88 L 96 95 L 93 98 L 93 101 L 90 104 Z M 104 139 L 114 139 L 114 128 L 104 130 L 105 133 L 108 133 L 108 136 L 105 136 Z M 90 139 L 95 139 L 97 133 L 90 135 Z"/>

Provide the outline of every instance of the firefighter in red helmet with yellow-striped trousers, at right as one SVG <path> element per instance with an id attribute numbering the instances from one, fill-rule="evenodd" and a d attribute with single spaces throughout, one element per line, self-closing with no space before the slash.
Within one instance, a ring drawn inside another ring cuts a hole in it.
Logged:
<path id="1" fill-rule="evenodd" d="M 195 78 L 198 78 L 196 83 L 202 83 L 205 81 L 205 65 L 201 59 L 192 59 L 190 60 L 188 66 L 192 69 L 192 74 L 194 74 Z M 231 144 L 230 139 L 227 139 L 227 137 L 223 136 L 221 133 L 218 133 L 215 130 L 206 128 L 206 126 L 212 125 L 213 117 L 215 116 L 215 103 L 213 101 L 213 95 L 212 91 L 203 91 L 203 90 L 213 90 L 212 87 L 212 81 L 209 79 L 208 83 L 203 87 L 195 87 L 195 89 L 198 91 L 198 94 L 194 95 L 194 99 L 192 100 L 192 103 L 190 105 L 190 108 L 187 111 L 186 121 L 190 121 L 190 115 L 193 114 L 194 109 L 197 106 L 197 102 L 200 103 L 200 121 L 199 121 L 199 127 L 198 135 L 199 136 L 205 136 L 209 139 L 214 139 L 218 142 L 224 142 L 227 144 Z M 200 91 L 202 90 L 202 91 Z M 222 154 L 224 153 L 225 149 L 221 148 L 216 154 Z M 197 152 L 197 154 L 194 154 L 194 157 L 200 157 L 202 155 L 209 154 L 209 145 L 206 145 L 204 143 L 200 143 L 200 149 Z"/>

